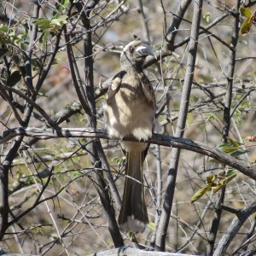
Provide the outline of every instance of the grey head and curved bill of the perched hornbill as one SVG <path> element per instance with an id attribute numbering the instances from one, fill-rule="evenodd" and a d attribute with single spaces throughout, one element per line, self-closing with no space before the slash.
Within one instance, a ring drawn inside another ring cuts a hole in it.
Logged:
<path id="1" fill-rule="evenodd" d="M 148 55 L 156 57 L 154 48 L 150 43 L 137 38 L 123 49 L 120 59 L 121 69 L 134 67 L 137 70 L 143 70 L 144 61 Z"/>

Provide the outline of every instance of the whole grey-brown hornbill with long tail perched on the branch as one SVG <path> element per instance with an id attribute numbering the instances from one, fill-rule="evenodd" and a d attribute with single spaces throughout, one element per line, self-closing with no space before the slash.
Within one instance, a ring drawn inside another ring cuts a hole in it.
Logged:
<path id="1" fill-rule="evenodd" d="M 119 227 L 125 232 L 143 232 L 148 224 L 143 189 L 143 161 L 148 143 L 144 141 L 152 137 L 156 110 L 154 90 L 143 73 L 148 55 L 156 56 L 151 44 L 141 39 L 125 46 L 120 57 L 121 71 L 112 79 L 104 109 L 110 137 L 130 136 L 140 141 L 121 142 L 126 163 Z"/>

